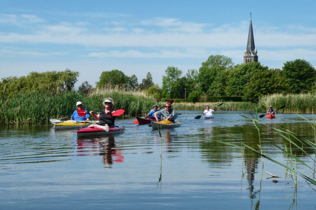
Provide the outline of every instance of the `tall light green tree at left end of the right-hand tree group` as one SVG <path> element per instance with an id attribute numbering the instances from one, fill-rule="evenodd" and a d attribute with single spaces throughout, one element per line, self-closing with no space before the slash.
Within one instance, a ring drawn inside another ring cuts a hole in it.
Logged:
<path id="1" fill-rule="evenodd" d="M 162 76 L 162 97 L 171 99 L 180 97 L 180 77 L 182 71 L 177 67 L 168 66 L 166 75 Z"/>

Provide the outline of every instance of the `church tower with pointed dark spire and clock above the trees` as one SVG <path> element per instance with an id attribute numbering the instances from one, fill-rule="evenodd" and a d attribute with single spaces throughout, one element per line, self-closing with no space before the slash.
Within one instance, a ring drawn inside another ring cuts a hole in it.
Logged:
<path id="1" fill-rule="evenodd" d="M 255 41 L 253 38 L 251 13 L 250 13 L 250 26 L 249 26 L 249 33 L 248 33 L 247 48 L 245 49 L 245 54 L 244 54 L 244 63 L 250 63 L 250 62 L 258 62 L 257 48 L 255 48 Z"/>

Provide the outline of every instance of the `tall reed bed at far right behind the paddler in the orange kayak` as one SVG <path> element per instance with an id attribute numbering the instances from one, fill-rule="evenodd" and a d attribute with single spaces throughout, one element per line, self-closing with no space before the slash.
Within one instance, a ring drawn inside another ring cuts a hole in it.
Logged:
<path id="1" fill-rule="evenodd" d="M 285 105 L 283 113 L 315 113 L 316 95 L 309 94 L 273 94 L 259 99 L 258 105 L 268 109 L 272 105 L 274 109 Z"/>

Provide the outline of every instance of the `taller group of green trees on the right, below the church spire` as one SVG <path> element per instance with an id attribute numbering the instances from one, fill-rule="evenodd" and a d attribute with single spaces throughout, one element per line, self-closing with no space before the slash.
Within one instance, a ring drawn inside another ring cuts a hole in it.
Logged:
<path id="1" fill-rule="evenodd" d="M 197 102 L 204 96 L 241 96 L 243 101 L 257 103 L 269 94 L 315 92 L 316 71 L 306 60 L 284 63 L 282 70 L 269 69 L 259 62 L 234 65 L 224 55 L 211 55 L 198 71 L 185 76 L 177 67 L 169 66 L 162 78 L 162 97 L 186 98 Z M 185 91 L 186 89 L 186 91 Z"/>

